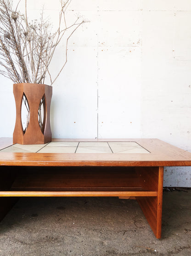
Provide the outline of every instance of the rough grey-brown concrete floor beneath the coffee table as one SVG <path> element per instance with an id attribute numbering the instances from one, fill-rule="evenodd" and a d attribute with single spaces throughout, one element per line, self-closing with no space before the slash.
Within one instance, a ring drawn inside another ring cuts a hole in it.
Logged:
<path id="1" fill-rule="evenodd" d="M 0 222 L 0 256 L 191 255 L 191 190 L 164 191 L 162 239 L 135 200 L 22 198 Z"/>

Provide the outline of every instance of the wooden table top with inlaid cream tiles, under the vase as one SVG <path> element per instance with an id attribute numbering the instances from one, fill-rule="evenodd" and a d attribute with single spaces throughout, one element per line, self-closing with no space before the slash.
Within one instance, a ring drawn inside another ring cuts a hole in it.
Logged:
<path id="1" fill-rule="evenodd" d="M 43 145 L 0 138 L 0 166 L 191 166 L 191 153 L 159 139 L 52 139 Z"/>

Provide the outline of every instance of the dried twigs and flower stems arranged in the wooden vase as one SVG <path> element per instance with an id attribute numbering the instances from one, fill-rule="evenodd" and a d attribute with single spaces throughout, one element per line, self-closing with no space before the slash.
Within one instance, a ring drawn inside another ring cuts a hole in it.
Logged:
<path id="1" fill-rule="evenodd" d="M 10 78 L 14 83 L 34 83 L 44 84 L 49 78 L 52 85 L 60 75 L 67 63 L 67 44 L 73 33 L 83 24 L 84 20 L 77 18 L 72 24 L 66 22 L 66 11 L 71 0 L 61 0 L 61 10 L 59 12 L 58 27 L 54 33 L 51 32 L 51 24 L 44 19 L 42 10 L 41 18 L 38 20 L 28 20 L 27 0 L 25 2 L 25 13 L 13 8 L 12 0 L 0 0 L 0 74 Z M 55 50 L 58 44 L 65 40 L 65 58 L 60 70 L 54 78 L 49 70 Z M 26 127 L 28 128 L 30 119 L 30 109 L 28 100 L 23 95 L 23 103 L 27 109 Z M 45 99 L 39 103 L 38 122 L 43 131 L 43 117 L 41 106 L 45 106 Z"/>

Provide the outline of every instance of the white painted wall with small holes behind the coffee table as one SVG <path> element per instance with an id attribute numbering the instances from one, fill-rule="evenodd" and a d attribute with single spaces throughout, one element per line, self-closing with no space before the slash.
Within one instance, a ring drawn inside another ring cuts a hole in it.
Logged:
<path id="1" fill-rule="evenodd" d="M 59 0 L 28 1 L 28 14 L 43 4 L 56 24 Z M 79 13 L 90 23 L 53 85 L 53 137 L 156 137 L 191 152 L 191 0 L 72 0 L 68 18 Z M 53 72 L 60 56 L 62 44 Z M 0 137 L 11 137 L 12 82 L 0 81 Z M 164 186 L 191 187 L 191 167 L 165 168 Z"/>

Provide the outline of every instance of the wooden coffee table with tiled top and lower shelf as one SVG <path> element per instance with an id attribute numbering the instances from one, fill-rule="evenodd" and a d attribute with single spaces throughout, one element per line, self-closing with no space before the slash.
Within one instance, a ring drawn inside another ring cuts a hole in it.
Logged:
<path id="1" fill-rule="evenodd" d="M 0 149 L 0 219 L 20 196 L 118 196 L 137 200 L 157 238 L 163 167 L 191 166 L 191 153 L 158 139 L 0 138 Z"/>

